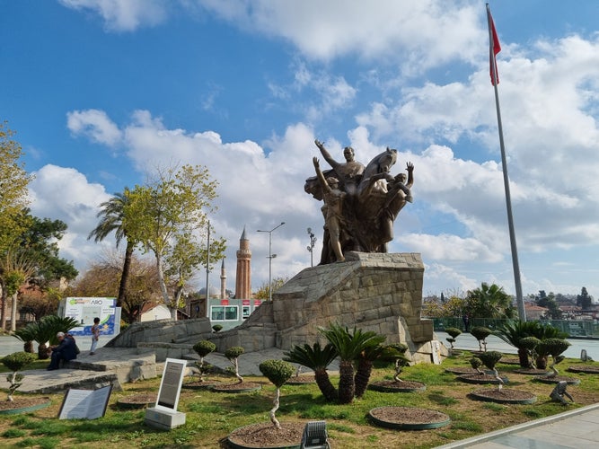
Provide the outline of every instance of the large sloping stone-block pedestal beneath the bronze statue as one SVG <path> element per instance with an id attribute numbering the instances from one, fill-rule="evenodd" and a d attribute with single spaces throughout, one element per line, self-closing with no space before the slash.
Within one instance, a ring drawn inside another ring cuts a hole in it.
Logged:
<path id="1" fill-rule="evenodd" d="M 212 340 L 220 352 L 231 346 L 260 350 L 260 343 L 272 337 L 276 348 L 290 349 L 326 343 L 319 326 L 339 322 L 374 330 L 387 337 L 386 343 L 404 343 L 414 362 L 430 363 L 433 353 L 446 357 L 447 351 L 444 345 L 440 354 L 432 348 L 433 322 L 420 319 L 423 276 L 418 253 L 349 252 L 345 262 L 304 269 L 273 294 L 272 303 Z"/>

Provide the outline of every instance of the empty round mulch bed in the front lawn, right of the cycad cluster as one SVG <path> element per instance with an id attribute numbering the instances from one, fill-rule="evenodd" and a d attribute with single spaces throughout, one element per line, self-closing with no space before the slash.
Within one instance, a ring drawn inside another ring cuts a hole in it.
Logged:
<path id="1" fill-rule="evenodd" d="M 377 426 L 400 430 L 425 430 L 451 422 L 445 413 L 416 407 L 377 407 L 370 410 L 368 416 Z"/>

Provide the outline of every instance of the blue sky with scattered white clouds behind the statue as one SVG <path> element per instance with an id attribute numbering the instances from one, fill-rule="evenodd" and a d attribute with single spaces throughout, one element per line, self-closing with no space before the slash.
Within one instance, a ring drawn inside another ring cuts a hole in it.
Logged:
<path id="1" fill-rule="evenodd" d="M 599 295 L 599 3 L 490 2 L 524 295 Z M 515 293 L 489 38 L 480 1 L 35 0 L 0 17 L 0 119 L 34 172 L 31 208 L 69 226 L 78 269 L 113 241 L 86 240 L 99 204 L 172 163 L 219 180 L 216 233 L 243 227 L 252 286 L 310 264 L 318 155 L 386 146 L 414 163 L 414 203 L 391 251 L 419 252 L 424 294 L 496 282 Z M 198 281 L 198 287 L 204 281 Z M 217 270 L 211 285 L 218 286 Z"/>

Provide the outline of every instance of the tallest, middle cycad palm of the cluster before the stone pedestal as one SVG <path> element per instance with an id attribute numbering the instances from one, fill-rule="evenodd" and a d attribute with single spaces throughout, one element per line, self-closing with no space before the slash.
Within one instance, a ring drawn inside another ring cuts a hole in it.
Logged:
<path id="1" fill-rule="evenodd" d="M 363 332 L 354 329 L 352 333 L 347 327 L 336 323 L 330 323 L 328 328 L 321 328 L 320 331 L 339 353 L 339 403 L 351 403 L 356 393 L 354 360 L 368 348 L 370 341 L 380 336 L 372 330 Z"/>

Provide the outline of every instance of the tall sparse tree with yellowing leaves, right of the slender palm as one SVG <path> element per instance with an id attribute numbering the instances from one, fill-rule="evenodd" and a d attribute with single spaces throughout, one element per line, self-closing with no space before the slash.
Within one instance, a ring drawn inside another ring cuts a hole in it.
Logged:
<path id="1" fill-rule="evenodd" d="M 181 294 L 200 264 L 207 266 L 207 214 L 214 211 L 216 180 L 207 168 L 183 165 L 159 171 L 157 179 L 127 192 L 125 225 L 128 236 L 154 254 L 164 304 L 177 319 Z M 210 241 L 210 260 L 221 260 L 225 241 Z M 169 277 L 176 276 L 173 295 Z"/>

